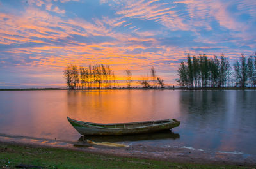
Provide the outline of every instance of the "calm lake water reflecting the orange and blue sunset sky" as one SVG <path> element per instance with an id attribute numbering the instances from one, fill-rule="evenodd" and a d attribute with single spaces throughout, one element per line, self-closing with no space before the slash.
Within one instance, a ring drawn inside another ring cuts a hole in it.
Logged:
<path id="1" fill-rule="evenodd" d="M 0 133 L 78 140 L 67 116 L 112 123 L 175 118 L 172 132 L 92 140 L 256 154 L 256 91 L 0 91 Z"/>

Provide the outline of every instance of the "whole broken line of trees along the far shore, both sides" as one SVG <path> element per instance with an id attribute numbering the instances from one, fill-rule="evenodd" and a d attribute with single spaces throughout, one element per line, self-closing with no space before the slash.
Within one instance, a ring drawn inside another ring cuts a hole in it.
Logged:
<path id="1" fill-rule="evenodd" d="M 127 88 L 117 87 L 114 71 L 109 65 L 95 64 L 87 68 L 68 65 L 64 71 L 68 89 L 134 89 L 131 87 L 132 72 L 124 70 Z M 228 58 L 223 54 L 220 57 L 206 54 L 195 56 L 187 55 L 186 62 L 180 62 L 177 70 L 179 84 L 176 89 L 241 89 L 256 87 L 256 53 L 246 59 L 244 54 L 230 66 Z M 164 89 L 164 80 L 157 77 L 152 66 L 150 75 L 144 75 L 137 80 L 143 89 Z M 136 87 L 139 88 L 140 87 Z M 173 89 L 173 87 L 168 87 Z"/>

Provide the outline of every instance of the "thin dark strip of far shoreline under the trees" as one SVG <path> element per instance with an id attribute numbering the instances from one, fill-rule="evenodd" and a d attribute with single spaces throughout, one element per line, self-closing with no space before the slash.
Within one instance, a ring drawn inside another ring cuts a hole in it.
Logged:
<path id="1" fill-rule="evenodd" d="M 218 90 L 256 90 L 256 87 L 199 87 L 199 88 L 184 88 L 184 87 L 168 87 L 168 88 L 143 88 L 143 87 L 133 87 L 133 88 L 107 88 L 107 89 L 67 89 L 67 88 L 20 88 L 20 89 L 0 89 L 0 91 L 108 91 L 108 90 L 182 90 L 182 91 L 218 91 Z"/>

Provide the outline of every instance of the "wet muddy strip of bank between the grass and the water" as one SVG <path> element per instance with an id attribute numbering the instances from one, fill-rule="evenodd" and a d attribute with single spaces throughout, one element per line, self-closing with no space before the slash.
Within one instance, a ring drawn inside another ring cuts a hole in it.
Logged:
<path id="1" fill-rule="evenodd" d="M 220 164 L 237 166 L 256 166 L 256 156 L 242 152 L 205 151 L 193 147 L 152 147 L 141 143 L 128 147 L 109 147 L 87 142 L 44 139 L 28 136 L 0 134 L 0 142 L 33 147 L 59 147 L 94 154 L 156 159 L 176 163 Z"/>

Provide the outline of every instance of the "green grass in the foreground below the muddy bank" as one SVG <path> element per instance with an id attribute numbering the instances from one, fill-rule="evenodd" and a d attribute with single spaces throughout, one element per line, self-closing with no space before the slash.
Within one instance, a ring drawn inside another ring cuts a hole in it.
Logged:
<path id="1" fill-rule="evenodd" d="M 83 151 L 0 143 L 0 168 L 26 164 L 44 168 L 246 168 L 242 166 L 171 163 L 152 159 L 122 158 Z"/>

